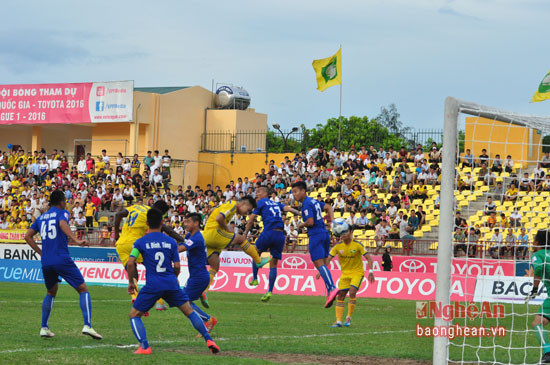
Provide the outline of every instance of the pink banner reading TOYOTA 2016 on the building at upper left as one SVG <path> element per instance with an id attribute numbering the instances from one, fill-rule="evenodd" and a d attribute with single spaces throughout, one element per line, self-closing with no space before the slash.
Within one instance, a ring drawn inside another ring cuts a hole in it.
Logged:
<path id="1" fill-rule="evenodd" d="M 2 85 L 0 124 L 131 121 L 133 90 L 133 81 Z"/>

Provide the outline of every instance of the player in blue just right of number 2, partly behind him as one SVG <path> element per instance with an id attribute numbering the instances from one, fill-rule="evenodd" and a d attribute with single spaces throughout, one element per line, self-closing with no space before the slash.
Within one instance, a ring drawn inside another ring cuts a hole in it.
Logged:
<path id="1" fill-rule="evenodd" d="M 203 312 L 193 303 L 195 300 L 200 299 L 202 293 L 208 288 L 208 284 L 210 283 L 210 274 L 206 269 L 206 265 L 208 265 L 206 260 L 206 244 L 200 231 L 201 221 L 202 217 L 199 213 L 190 213 L 185 217 L 185 230 L 188 233 L 185 235 L 183 243 L 179 244 L 178 250 L 179 252 L 187 252 L 189 279 L 187 279 L 183 291 L 189 298 L 191 308 L 204 321 L 208 333 L 211 333 L 218 320 Z M 197 337 L 200 336 L 197 335 Z"/>

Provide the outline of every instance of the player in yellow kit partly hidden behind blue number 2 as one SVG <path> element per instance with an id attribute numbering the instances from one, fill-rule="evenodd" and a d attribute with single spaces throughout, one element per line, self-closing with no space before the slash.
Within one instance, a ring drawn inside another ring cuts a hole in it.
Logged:
<path id="1" fill-rule="evenodd" d="M 153 208 L 156 208 L 162 212 L 162 214 L 166 214 L 170 207 L 164 200 L 158 200 L 153 204 Z M 141 237 L 145 236 L 149 226 L 147 225 L 147 212 L 151 209 L 151 207 L 143 204 L 134 204 L 124 210 L 119 211 L 115 215 L 115 240 L 116 240 L 116 251 L 118 254 L 118 257 L 120 258 L 120 261 L 122 262 L 122 265 L 124 266 L 124 269 L 126 272 L 128 272 L 127 263 L 128 259 L 130 258 L 130 253 L 132 252 L 132 248 L 134 247 L 134 242 L 136 240 L 140 239 Z M 122 222 L 122 219 L 126 218 L 126 221 L 124 222 L 124 225 L 122 226 L 122 233 L 120 233 L 120 223 Z M 168 234 L 170 237 L 174 238 L 178 242 L 184 242 L 184 238 L 178 235 L 174 230 L 166 225 L 162 226 L 162 231 L 166 234 Z M 143 262 L 143 260 L 140 258 L 137 259 L 138 263 Z M 137 264 L 135 265 L 135 270 L 133 270 L 134 273 L 136 273 L 135 281 L 136 281 L 136 287 L 137 287 Z M 135 300 L 137 296 L 137 292 L 132 295 L 132 300 Z M 157 310 L 164 310 L 166 309 L 166 306 L 164 306 L 164 302 L 160 300 L 157 303 Z"/>

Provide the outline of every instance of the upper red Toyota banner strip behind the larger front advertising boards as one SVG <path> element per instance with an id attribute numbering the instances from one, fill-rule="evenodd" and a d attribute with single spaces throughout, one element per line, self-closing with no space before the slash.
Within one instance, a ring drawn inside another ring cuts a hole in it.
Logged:
<path id="1" fill-rule="evenodd" d="M 372 255 L 374 271 L 381 271 L 382 256 Z M 423 256 L 392 256 L 392 272 L 418 272 L 418 273 L 436 273 L 437 258 Z M 366 260 L 364 261 L 366 265 Z M 222 265 L 223 266 L 223 265 Z M 315 269 L 309 255 L 307 254 L 283 254 L 283 259 L 279 264 L 283 269 Z M 340 263 L 338 258 L 334 258 L 330 263 L 331 270 L 339 270 Z M 515 275 L 515 264 L 511 260 L 493 260 L 493 259 L 472 259 L 456 258 L 453 260 L 452 272 L 457 275 Z"/>

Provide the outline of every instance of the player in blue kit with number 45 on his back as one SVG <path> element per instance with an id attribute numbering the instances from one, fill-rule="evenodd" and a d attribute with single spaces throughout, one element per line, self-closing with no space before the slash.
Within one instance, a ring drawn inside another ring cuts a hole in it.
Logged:
<path id="1" fill-rule="evenodd" d="M 69 255 L 69 241 L 79 245 L 86 244 L 86 241 L 77 239 L 71 232 L 70 215 L 65 210 L 66 206 L 65 194 L 61 190 L 53 191 L 50 195 L 50 209 L 34 221 L 25 234 L 25 241 L 42 257 L 42 275 L 44 284 L 46 284 L 47 293 L 42 302 L 40 336 L 54 336 L 48 326 L 48 320 L 57 294 L 58 283 L 61 282 L 59 277 L 61 277 L 80 294 L 80 309 L 84 317 L 82 333 L 101 340 L 103 337 L 92 328 L 92 301 L 88 287 L 80 270 Z M 37 233 L 40 233 L 42 238 L 42 249 L 38 247 L 33 238 Z"/>

